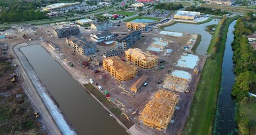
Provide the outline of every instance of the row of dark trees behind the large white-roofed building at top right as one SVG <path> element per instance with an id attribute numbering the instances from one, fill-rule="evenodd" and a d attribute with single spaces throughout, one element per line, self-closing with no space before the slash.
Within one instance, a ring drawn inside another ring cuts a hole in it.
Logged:
<path id="1" fill-rule="evenodd" d="M 213 10 L 212 8 L 209 8 L 209 7 L 196 7 L 196 6 L 186 7 L 185 11 L 196 11 L 196 12 L 206 13 L 210 15 L 218 15 L 218 16 L 223 16 L 228 13 L 227 11 L 221 11 L 221 9 Z"/>

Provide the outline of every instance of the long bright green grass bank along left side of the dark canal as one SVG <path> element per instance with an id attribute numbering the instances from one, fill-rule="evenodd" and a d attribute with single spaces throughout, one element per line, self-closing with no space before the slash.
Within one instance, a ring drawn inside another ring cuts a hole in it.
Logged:
<path id="1" fill-rule="evenodd" d="M 238 16 L 228 19 L 223 24 L 221 33 L 221 23 L 219 23 L 214 31 L 213 39 L 210 42 L 208 53 L 210 56 L 206 62 L 204 69 L 192 101 L 190 115 L 183 129 L 183 134 L 212 134 L 215 110 L 217 105 L 217 97 L 221 84 L 221 68 L 224 54 L 224 48 L 227 38 L 228 26 L 237 19 Z M 215 44 L 219 34 L 222 36 L 221 46 L 218 51 Z M 215 52 L 216 51 L 216 52 Z"/>

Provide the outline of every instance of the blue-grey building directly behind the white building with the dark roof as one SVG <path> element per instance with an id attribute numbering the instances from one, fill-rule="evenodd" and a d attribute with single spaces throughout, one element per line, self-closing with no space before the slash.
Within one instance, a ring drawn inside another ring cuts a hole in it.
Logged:
<path id="1" fill-rule="evenodd" d="M 113 28 L 113 23 L 111 21 L 95 22 L 91 24 L 91 30 L 109 30 Z"/>

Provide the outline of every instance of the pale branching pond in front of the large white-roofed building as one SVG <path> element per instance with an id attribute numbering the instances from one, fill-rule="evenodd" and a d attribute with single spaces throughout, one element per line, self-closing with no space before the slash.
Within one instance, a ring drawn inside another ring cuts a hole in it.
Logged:
<path id="1" fill-rule="evenodd" d="M 205 28 L 208 25 L 218 24 L 218 22 L 219 20 L 213 19 L 212 21 L 206 22 L 204 24 L 177 23 L 172 26 L 165 27 L 164 30 L 201 35 L 201 42 L 196 48 L 196 53 L 199 55 L 206 55 L 210 40 L 212 39 L 212 34 L 210 34 L 208 31 L 205 31 Z"/>

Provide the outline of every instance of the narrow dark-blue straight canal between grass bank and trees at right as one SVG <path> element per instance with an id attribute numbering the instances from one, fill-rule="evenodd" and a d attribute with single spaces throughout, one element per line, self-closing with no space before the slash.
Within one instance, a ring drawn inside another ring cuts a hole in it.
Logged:
<path id="1" fill-rule="evenodd" d="M 233 51 L 231 47 L 235 24 L 236 21 L 233 21 L 228 27 L 227 40 L 222 62 L 221 89 L 218 95 L 217 111 L 215 115 L 214 134 L 237 134 L 235 131 L 235 102 L 231 97 L 231 89 L 236 78 L 235 74 L 233 73 Z"/>

